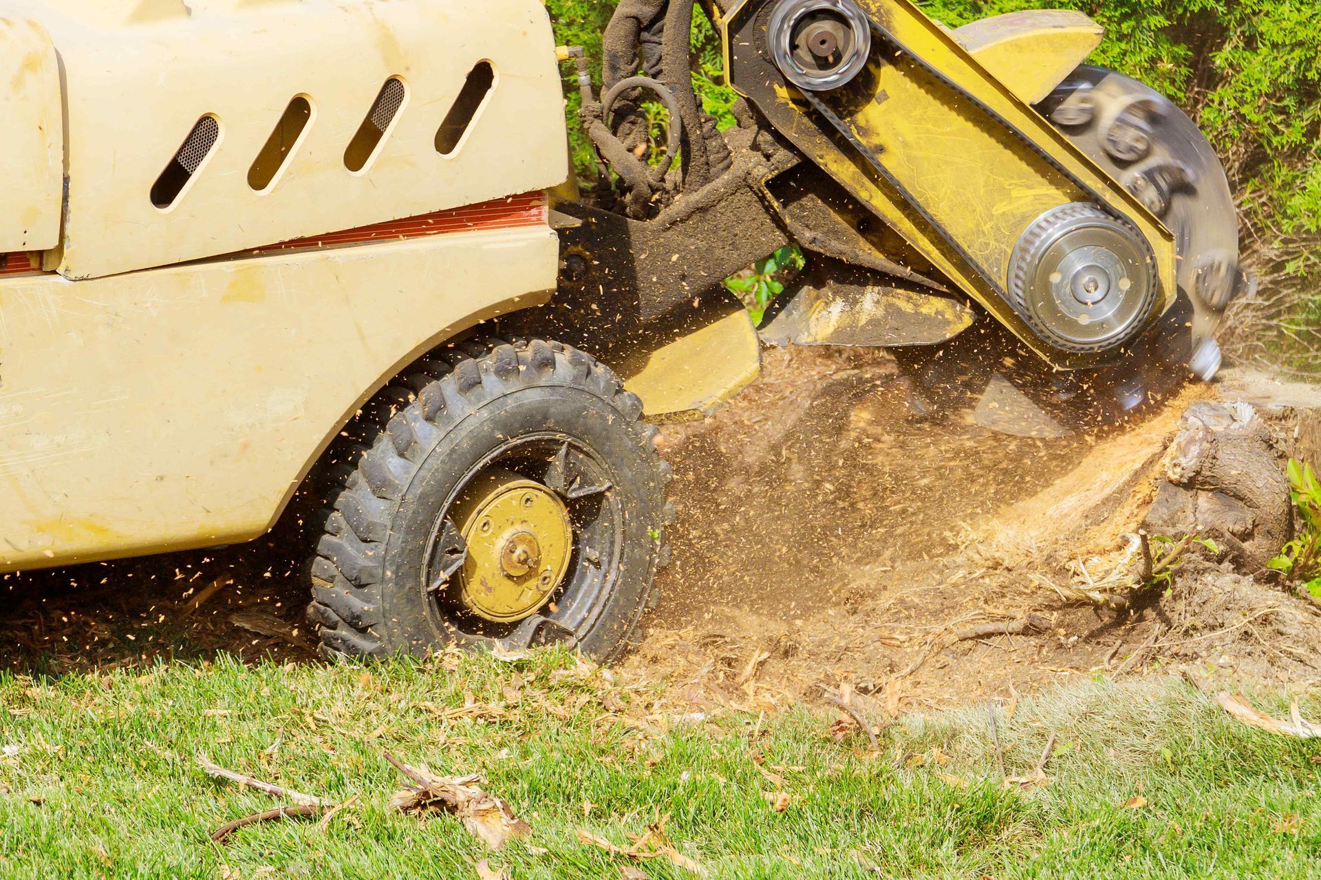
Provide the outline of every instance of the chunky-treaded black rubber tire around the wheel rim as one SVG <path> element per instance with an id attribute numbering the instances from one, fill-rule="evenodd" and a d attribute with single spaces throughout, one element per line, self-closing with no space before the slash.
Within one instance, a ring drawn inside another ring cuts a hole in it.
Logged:
<path id="1" fill-rule="evenodd" d="M 572 633 L 550 628 L 550 637 L 531 644 L 569 641 L 593 658 L 614 660 L 641 639 L 642 615 L 655 606 L 662 530 L 672 519 L 664 500 L 670 467 L 657 453 L 657 429 L 642 421 L 642 401 L 604 364 L 542 339 L 468 342 L 415 369 L 350 426 L 362 443 L 349 454 L 353 466 L 328 468 L 341 488 L 324 516 L 308 607 L 322 653 L 425 656 L 502 641 L 445 619 L 423 590 L 424 557 L 483 456 L 520 437 L 553 434 L 600 455 L 622 525 L 609 586 L 593 599 L 590 619 Z"/>

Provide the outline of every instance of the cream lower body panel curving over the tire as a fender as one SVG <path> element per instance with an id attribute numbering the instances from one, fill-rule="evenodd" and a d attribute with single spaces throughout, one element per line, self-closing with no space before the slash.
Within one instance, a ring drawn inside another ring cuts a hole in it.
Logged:
<path id="1" fill-rule="evenodd" d="M 370 394 L 557 264 L 532 227 L 0 280 L 0 570 L 258 537 Z"/>

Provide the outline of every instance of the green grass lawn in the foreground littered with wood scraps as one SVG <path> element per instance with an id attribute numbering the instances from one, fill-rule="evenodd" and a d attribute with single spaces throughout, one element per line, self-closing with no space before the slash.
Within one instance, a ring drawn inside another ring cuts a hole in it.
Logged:
<path id="1" fill-rule="evenodd" d="M 1254 697 L 1287 715 L 1284 695 Z M 0 673 L 0 876 L 478 877 L 489 859 L 514 880 L 618 880 L 625 865 L 691 877 L 579 838 L 627 846 L 663 817 L 711 877 L 1321 876 L 1321 743 L 1242 726 L 1181 681 L 1005 708 L 1008 776 L 1029 774 L 1055 735 L 1046 784 L 1000 782 L 985 706 L 904 718 L 877 753 L 856 728 L 832 735 L 828 714 L 695 716 L 563 653 Z M 1303 712 L 1321 715 L 1321 699 Z M 394 813 L 402 780 L 383 749 L 485 773 L 532 834 L 490 852 L 454 818 Z M 273 822 L 217 846 L 210 831 L 273 802 L 205 776 L 198 751 L 358 801 L 325 830 Z"/>

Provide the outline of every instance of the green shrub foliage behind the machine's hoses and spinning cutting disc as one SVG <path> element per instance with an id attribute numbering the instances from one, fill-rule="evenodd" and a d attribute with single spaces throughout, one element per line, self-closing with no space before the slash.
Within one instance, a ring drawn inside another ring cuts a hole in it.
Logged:
<path id="1" fill-rule="evenodd" d="M 1106 26 L 1092 55 L 1170 95 L 1219 152 L 1242 207 L 1247 260 L 1262 276 L 1256 301 L 1239 302 L 1226 330 L 1240 358 L 1287 355 L 1321 363 L 1321 3 L 1317 0 L 925 0 L 950 26 L 1033 8 L 1079 9 Z M 601 55 L 613 0 L 547 0 L 560 42 Z M 720 41 L 697 16 L 694 84 L 708 112 L 733 124 Z M 565 71 L 568 73 L 568 71 Z M 600 70 L 596 70 L 600 75 Z M 568 113 L 573 158 L 592 150 Z"/>

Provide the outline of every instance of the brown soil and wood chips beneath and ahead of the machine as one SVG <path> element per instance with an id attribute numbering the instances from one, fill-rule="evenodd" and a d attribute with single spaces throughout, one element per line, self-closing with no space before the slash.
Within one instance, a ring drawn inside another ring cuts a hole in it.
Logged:
<path id="1" fill-rule="evenodd" d="M 913 420 L 884 355 L 770 351 L 762 380 L 729 406 L 664 430 L 674 562 L 625 665 L 697 706 L 771 708 L 844 686 L 886 712 L 1157 660 L 1313 681 L 1321 616 L 1206 559 L 1136 612 L 1049 586 L 1077 581 L 1079 561 L 1092 575 L 1112 565 L 1178 414 L 1207 393 L 1190 388 L 1104 437 L 1013 438 Z M 314 662 L 297 532 L 287 522 L 242 548 L 5 577 L 0 669 L 219 652 Z M 1046 631 L 954 640 L 1026 615 Z"/>

